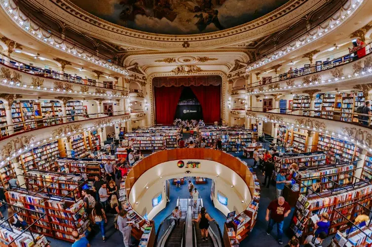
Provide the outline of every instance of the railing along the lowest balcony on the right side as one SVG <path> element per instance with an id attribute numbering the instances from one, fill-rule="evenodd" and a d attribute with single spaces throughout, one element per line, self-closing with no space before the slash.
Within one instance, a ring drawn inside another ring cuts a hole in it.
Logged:
<path id="1" fill-rule="evenodd" d="M 355 124 L 372 129 L 372 115 L 360 113 L 347 113 L 342 111 L 327 111 L 327 110 L 309 110 L 309 109 L 286 109 L 272 108 L 270 111 L 265 111 L 262 107 L 248 107 L 247 112 L 260 112 L 265 114 L 275 113 L 281 115 L 292 115 L 298 117 L 310 117 L 317 119 L 325 119 L 347 124 Z"/>

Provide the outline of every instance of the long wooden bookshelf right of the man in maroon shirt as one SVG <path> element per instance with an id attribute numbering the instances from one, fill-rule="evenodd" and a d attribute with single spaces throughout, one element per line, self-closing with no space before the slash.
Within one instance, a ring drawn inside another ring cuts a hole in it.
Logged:
<path id="1" fill-rule="evenodd" d="M 312 190 L 311 187 L 307 189 Z M 372 185 L 364 180 L 345 186 L 338 184 L 336 188 L 321 193 L 313 192 L 307 197 L 300 194 L 290 228 L 302 242 L 314 233 L 314 222 L 320 218 L 320 214 L 327 212 L 331 224 L 329 234 L 345 230 L 349 221 L 366 212 L 366 206 L 371 207 L 371 196 Z M 340 216 L 336 210 L 345 217 Z"/>

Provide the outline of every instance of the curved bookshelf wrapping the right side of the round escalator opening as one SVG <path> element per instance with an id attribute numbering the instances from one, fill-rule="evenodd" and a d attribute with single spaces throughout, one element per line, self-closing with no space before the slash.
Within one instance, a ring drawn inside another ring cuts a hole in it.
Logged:
<path id="1" fill-rule="evenodd" d="M 260 180 L 255 172 L 252 172 L 254 185 L 252 201 L 243 212 L 225 222 L 223 226 L 223 243 L 225 247 L 238 247 L 239 243 L 248 237 L 257 222 L 257 214 L 260 204 Z"/>

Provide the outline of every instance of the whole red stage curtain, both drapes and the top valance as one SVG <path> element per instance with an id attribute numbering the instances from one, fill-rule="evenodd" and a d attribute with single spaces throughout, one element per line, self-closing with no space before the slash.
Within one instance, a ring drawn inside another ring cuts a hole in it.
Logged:
<path id="1" fill-rule="evenodd" d="M 156 124 L 173 123 L 184 86 L 189 86 L 199 101 L 205 123 L 221 121 L 221 77 L 161 77 L 152 82 Z"/>

